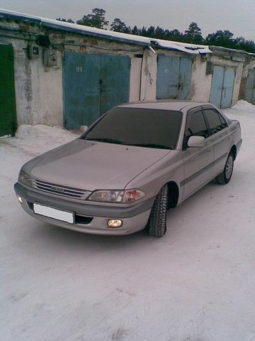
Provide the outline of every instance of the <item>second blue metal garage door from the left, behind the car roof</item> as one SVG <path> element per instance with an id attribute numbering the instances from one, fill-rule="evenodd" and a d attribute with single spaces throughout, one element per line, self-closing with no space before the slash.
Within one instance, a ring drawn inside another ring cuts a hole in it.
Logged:
<path id="1" fill-rule="evenodd" d="M 158 55 L 157 99 L 188 99 L 191 75 L 191 58 Z"/>

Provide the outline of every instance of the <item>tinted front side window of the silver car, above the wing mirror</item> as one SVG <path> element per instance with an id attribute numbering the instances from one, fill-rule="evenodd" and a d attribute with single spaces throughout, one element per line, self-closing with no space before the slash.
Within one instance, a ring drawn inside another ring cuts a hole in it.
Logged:
<path id="1" fill-rule="evenodd" d="M 188 139 L 191 136 L 203 136 L 205 139 L 208 138 L 209 132 L 206 126 L 203 112 L 192 112 L 188 114 L 185 129 L 185 138 L 183 141 L 183 147 L 186 148 Z"/>

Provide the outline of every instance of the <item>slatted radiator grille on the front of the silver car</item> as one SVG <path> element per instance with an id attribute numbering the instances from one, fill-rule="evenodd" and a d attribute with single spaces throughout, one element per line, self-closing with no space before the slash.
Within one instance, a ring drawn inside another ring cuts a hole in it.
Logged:
<path id="1" fill-rule="evenodd" d="M 77 190 L 76 188 L 45 183 L 44 181 L 34 179 L 32 179 L 32 185 L 36 190 L 42 190 L 43 192 L 60 195 L 62 197 L 72 197 L 73 199 L 85 200 L 91 194 L 89 190 Z"/>

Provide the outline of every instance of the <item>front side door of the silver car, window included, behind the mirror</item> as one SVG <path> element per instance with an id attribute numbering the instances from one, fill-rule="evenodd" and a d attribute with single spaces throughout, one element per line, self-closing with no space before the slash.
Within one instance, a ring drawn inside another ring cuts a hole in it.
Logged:
<path id="1" fill-rule="evenodd" d="M 190 136 L 205 137 L 205 146 L 188 147 Z M 183 199 L 212 179 L 213 149 L 210 146 L 208 137 L 208 125 L 202 108 L 191 109 L 187 114 L 183 138 L 184 179 L 181 183 L 181 186 L 183 186 Z"/>

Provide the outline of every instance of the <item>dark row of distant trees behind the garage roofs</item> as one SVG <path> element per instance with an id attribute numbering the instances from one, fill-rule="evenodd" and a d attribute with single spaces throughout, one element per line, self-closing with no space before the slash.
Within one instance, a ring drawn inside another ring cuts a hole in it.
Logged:
<path id="1" fill-rule="evenodd" d="M 74 23 L 72 19 L 57 18 L 57 20 Z M 92 13 L 83 16 L 77 23 L 79 25 L 106 29 L 109 21 L 106 20 L 106 11 L 104 9 L 92 9 Z M 197 23 L 190 23 L 188 29 L 182 33 L 177 29 L 165 30 L 159 26 L 149 26 L 148 28 L 145 26 L 142 28 L 138 28 L 137 26 L 130 27 L 121 21 L 120 18 L 115 18 L 110 25 L 110 29 L 115 32 L 130 33 L 149 38 L 174 40 L 192 44 L 216 45 L 255 53 L 254 40 L 246 40 L 244 37 L 233 38 L 234 33 L 227 30 L 216 31 L 203 38 L 201 29 Z"/>

